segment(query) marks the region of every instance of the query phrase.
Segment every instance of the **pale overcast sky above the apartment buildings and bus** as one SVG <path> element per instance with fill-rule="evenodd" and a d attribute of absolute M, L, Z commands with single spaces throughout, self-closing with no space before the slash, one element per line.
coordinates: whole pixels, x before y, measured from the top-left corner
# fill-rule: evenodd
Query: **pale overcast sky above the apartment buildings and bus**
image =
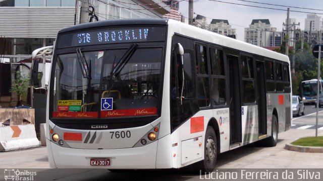
<path fill-rule="evenodd" d="M 256 7 L 265 7 L 271 9 Z M 228 20 L 229 24 L 232 25 L 232 28 L 236 29 L 237 39 L 244 41 L 244 28 L 248 28 L 253 19 L 268 19 L 272 26 L 277 28 L 277 31 L 282 31 L 283 23 L 285 23 L 287 18 L 288 7 L 290 7 L 290 18 L 295 18 L 296 23 L 300 23 L 299 28 L 301 30 L 304 30 L 305 18 L 307 17 L 308 13 L 316 13 L 318 16 L 323 17 L 323 0 L 195 0 L 193 11 L 195 13 L 194 17 L 196 15 L 202 15 L 206 17 L 208 24 L 212 19 Z M 184 17 L 188 18 L 188 0 L 180 2 L 180 12 Z M 188 22 L 187 19 L 186 22 Z"/>

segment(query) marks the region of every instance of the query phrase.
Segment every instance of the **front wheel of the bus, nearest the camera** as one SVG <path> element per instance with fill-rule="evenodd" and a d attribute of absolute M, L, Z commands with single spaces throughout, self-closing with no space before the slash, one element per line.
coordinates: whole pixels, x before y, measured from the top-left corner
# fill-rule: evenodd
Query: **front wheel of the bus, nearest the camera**
<path fill-rule="evenodd" d="M 208 173 L 214 170 L 218 157 L 217 135 L 211 126 L 207 126 L 204 140 L 204 159 L 195 163 L 196 171 Z"/>

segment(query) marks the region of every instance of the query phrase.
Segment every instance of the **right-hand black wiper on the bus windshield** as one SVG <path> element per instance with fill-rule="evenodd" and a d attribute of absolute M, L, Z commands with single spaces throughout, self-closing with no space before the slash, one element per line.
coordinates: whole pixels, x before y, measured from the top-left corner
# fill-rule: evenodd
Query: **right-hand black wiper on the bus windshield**
<path fill-rule="evenodd" d="M 132 57 L 133 53 L 136 51 L 138 44 L 134 43 L 132 44 L 126 53 L 121 57 L 121 59 L 118 61 L 117 65 L 112 69 L 110 75 L 111 76 L 117 76 L 121 72 L 121 70 L 125 67 L 125 65 L 128 63 L 130 58 Z"/>

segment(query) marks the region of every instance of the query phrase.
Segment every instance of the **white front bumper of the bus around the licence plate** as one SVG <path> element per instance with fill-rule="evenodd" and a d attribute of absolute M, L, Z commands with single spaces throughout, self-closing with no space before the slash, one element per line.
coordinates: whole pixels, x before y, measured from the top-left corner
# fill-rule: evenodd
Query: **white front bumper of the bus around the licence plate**
<path fill-rule="evenodd" d="M 124 149 L 75 149 L 48 141 L 47 149 L 52 155 L 50 166 L 56 168 L 151 169 L 156 168 L 157 143 Z M 110 165 L 93 166 L 91 158 L 110 158 Z"/>

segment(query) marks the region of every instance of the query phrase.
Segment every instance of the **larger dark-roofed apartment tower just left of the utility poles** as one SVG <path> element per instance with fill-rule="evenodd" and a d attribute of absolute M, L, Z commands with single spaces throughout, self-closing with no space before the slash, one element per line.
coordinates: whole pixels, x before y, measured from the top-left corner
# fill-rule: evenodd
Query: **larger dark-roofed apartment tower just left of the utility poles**
<path fill-rule="evenodd" d="M 273 46 L 276 29 L 268 19 L 252 20 L 249 28 L 244 30 L 244 41 L 260 47 Z"/>

